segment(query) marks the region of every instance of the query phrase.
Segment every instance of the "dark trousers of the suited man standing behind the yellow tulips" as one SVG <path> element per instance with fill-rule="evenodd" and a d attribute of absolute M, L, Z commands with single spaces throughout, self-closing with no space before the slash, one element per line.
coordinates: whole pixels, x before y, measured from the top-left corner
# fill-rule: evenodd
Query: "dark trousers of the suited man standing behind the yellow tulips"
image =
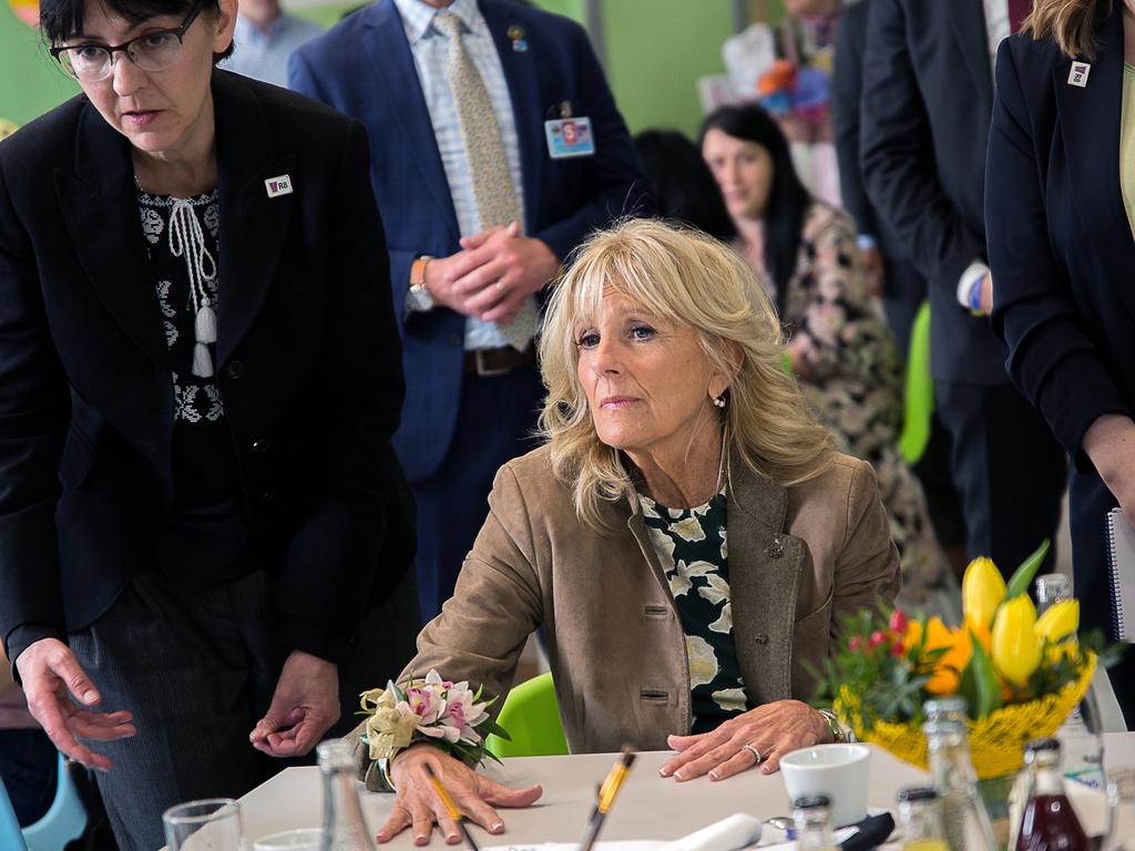
<path fill-rule="evenodd" d="M 1011 385 L 935 381 L 934 389 L 950 432 L 966 549 L 970 558 L 992 558 L 1008 578 L 1043 539 L 1056 540 L 1067 480 L 1063 447 Z M 1054 558 L 1056 547 L 1049 567 Z"/>

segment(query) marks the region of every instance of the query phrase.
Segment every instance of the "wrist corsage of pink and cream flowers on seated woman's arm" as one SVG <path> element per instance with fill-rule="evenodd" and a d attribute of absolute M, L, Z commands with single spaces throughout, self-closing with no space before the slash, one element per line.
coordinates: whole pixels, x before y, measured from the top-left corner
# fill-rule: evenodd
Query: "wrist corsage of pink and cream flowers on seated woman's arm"
<path fill-rule="evenodd" d="M 488 708 L 496 698 L 482 701 L 481 689 L 474 693 L 468 682 L 443 680 L 436 671 L 424 679 L 411 677 L 398 685 L 388 682 L 385 689 L 364 691 L 361 701 L 360 714 L 370 716 L 362 741 L 375 761 L 390 759 L 421 741 L 469 765 L 480 765 L 486 756 L 496 759 L 485 748 L 487 734 L 508 740 L 489 717 Z"/>

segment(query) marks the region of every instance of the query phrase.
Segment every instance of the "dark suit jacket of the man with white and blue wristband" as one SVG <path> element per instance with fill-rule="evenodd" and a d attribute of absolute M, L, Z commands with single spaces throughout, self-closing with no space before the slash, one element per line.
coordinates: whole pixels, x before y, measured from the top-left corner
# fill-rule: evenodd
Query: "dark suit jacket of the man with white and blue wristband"
<path fill-rule="evenodd" d="M 985 260 L 993 83 L 982 0 L 872 0 L 860 161 L 867 192 L 926 278 L 934 377 L 1008 384 L 1004 345 L 957 301 Z"/>

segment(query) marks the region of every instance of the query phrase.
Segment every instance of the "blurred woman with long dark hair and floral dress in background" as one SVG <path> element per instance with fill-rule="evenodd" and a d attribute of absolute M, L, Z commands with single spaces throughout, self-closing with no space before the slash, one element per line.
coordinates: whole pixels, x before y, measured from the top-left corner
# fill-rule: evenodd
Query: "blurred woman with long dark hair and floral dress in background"
<path fill-rule="evenodd" d="M 759 107 L 721 107 L 701 125 L 701 153 L 785 325 L 792 371 L 842 452 L 869 461 L 902 559 L 903 597 L 944 579 L 922 489 L 898 448 L 902 368 L 864 285 L 855 225 L 813 199 L 788 142 Z"/>

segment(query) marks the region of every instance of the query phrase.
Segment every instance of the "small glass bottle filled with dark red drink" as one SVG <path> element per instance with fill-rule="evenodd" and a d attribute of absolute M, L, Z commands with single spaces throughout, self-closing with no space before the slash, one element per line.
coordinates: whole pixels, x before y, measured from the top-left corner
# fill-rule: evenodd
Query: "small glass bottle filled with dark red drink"
<path fill-rule="evenodd" d="M 1065 794 L 1060 742 L 1039 739 L 1025 747 L 1029 772 L 1028 803 L 1017 833 L 1016 851 L 1091 851 L 1087 835 Z"/>

